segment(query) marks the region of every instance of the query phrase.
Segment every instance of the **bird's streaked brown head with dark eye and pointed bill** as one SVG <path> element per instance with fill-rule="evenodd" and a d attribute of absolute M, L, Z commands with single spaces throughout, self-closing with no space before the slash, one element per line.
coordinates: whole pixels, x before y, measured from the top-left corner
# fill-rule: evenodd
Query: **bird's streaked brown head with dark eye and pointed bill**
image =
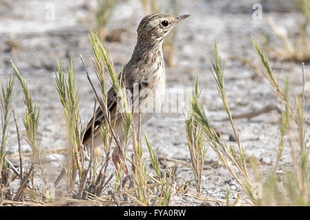
<path fill-rule="evenodd" d="M 177 23 L 189 17 L 189 14 L 173 16 L 170 14 L 148 14 L 140 21 L 137 32 L 138 41 L 157 42 L 164 41 Z"/>

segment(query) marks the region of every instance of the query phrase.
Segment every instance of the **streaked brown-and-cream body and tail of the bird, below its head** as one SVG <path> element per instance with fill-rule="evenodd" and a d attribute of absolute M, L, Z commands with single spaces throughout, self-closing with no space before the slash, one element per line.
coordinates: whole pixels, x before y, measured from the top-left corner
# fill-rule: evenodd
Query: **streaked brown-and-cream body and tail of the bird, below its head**
<path fill-rule="evenodd" d="M 137 114 L 141 111 L 141 121 L 145 124 L 150 120 L 158 109 L 159 105 L 162 105 L 164 100 L 164 87 L 166 84 L 164 58 L 162 56 L 162 47 L 154 48 L 151 51 L 144 51 L 143 48 L 135 47 L 133 56 L 130 61 L 125 65 L 119 79 L 122 79 L 122 85 L 127 89 L 131 96 L 131 102 L 133 104 L 133 118 L 136 118 L 135 124 L 137 124 Z M 137 94 L 136 91 L 139 91 Z M 128 95 L 128 92 L 126 93 Z M 128 98 L 128 97 L 127 97 Z M 121 124 L 122 113 L 119 112 L 119 104 L 117 104 L 117 94 L 113 87 L 110 88 L 107 95 L 107 107 L 110 113 L 110 122 L 112 124 Z M 150 104 L 153 106 L 150 109 Z M 148 106 L 148 109 L 145 107 Z M 137 108 L 139 107 L 139 108 Z M 101 108 L 98 107 L 95 112 L 95 130 L 94 130 L 94 146 L 101 143 L 99 126 L 104 122 L 104 114 Z M 91 129 L 93 125 L 93 118 L 88 122 L 86 131 L 83 137 L 83 144 L 89 145 L 91 137 Z M 122 136 L 122 126 L 115 128 L 115 133 Z"/>

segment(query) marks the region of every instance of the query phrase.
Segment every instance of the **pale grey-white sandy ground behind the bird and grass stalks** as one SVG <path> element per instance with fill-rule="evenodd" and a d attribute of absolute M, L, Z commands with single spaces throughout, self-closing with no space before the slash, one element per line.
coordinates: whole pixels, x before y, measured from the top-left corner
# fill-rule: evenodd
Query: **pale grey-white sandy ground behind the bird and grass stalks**
<path fill-rule="evenodd" d="M 86 2 L 86 1 L 85 1 Z M 59 59 L 66 63 L 72 58 L 77 71 L 77 83 L 81 94 L 81 116 L 87 122 L 93 113 L 95 98 L 86 75 L 79 61 L 79 54 L 84 56 L 86 65 L 95 80 L 91 64 L 91 50 L 88 43 L 88 30 L 95 27 L 95 1 L 48 1 L 28 0 L 0 1 L 0 78 L 4 82 L 11 72 L 10 59 L 19 67 L 21 74 L 32 89 L 34 100 L 40 109 L 39 137 L 41 146 L 46 150 L 64 148 L 65 124 L 61 104 L 55 90 L 55 68 Z M 281 2 L 281 3 L 280 3 Z M 55 21 L 45 19 L 46 4 L 55 4 Z M 214 39 L 225 61 L 226 93 L 233 114 L 246 113 L 277 104 L 278 100 L 267 80 L 258 76 L 253 68 L 240 62 L 246 58 L 260 67 L 258 58 L 251 45 L 251 36 L 269 37 L 277 43 L 274 34 L 267 25 L 267 17 L 273 17 L 279 25 L 293 24 L 294 17 L 300 16 L 291 1 L 262 1 L 263 14 L 261 21 L 252 18 L 252 5 L 255 1 L 180 1 L 180 14 L 192 16 L 178 27 L 175 48 L 177 64 L 166 68 L 166 87 L 174 89 L 191 89 L 195 76 L 200 78 L 204 86 L 202 101 L 206 113 L 218 131 L 224 133 L 229 141 L 232 134 L 229 122 L 225 118 L 220 96 L 217 94 L 213 76 L 210 72 L 212 44 Z M 25 10 L 26 8 L 26 10 Z M 293 11 L 293 12 L 291 12 Z M 128 61 L 136 41 L 136 28 L 144 13 L 137 0 L 120 1 L 117 3 L 108 30 L 125 28 L 121 42 L 106 42 L 104 45 L 110 51 L 117 71 Z M 15 43 L 17 48 L 10 51 L 8 43 Z M 291 80 L 292 93 L 301 91 L 301 66 L 298 63 L 272 63 L 278 78 L 288 76 Z M 309 66 L 306 65 L 306 69 Z M 309 77 L 308 77 L 309 79 Z M 306 83 L 306 94 L 309 93 L 309 83 Z M 12 108 L 17 112 L 19 125 L 22 126 L 23 96 L 17 80 Z M 167 99 L 167 102 L 169 100 Z M 186 165 L 190 159 L 184 134 L 184 121 L 180 113 L 158 113 L 144 125 L 147 134 L 163 166 L 176 163 L 178 166 L 176 181 L 193 179 L 191 168 Z M 256 157 L 262 166 L 263 173 L 268 173 L 275 163 L 279 142 L 279 114 L 276 111 L 259 115 L 251 120 L 241 119 L 235 123 L 240 131 L 242 144 L 246 155 Z M 13 124 L 12 124 L 13 125 Z M 309 137 L 309 133 L 306 134 Z M 23 152 L 30 151 L 23 141 Z M 10 126 L 8 134 L 8 155 L 17 152 L 17 138 L 14 126 Z M 53 181 L 61 170 L 63 155 L 46 156 L 46 175 Z M 211 166 L 217 162 L 217 157 L 209 148 L 204 169 L 203 193 L 217 199 L 224 199 L 226 188 L 231 188 L 231 196 L 240 192 L 240 187 L 223 166 Z M 284 151 L 284 157 L 279 168 L 289 162 L 289 152 Z M 113 166 L 109 166 L 111 172 Z M 65 183 L 59 186 L 64 190 Z M 200 205 L 202 201 L 185 195 L 175 195 L 175 205 Z"/>

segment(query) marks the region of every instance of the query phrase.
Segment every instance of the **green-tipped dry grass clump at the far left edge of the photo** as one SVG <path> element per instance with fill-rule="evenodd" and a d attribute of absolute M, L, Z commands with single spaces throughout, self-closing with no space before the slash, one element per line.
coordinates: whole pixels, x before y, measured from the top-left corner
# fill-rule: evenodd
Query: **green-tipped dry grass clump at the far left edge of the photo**
<path fill-rule="evenodd" d="M 39 112 L 37 110 L 37 105 L 32 102 L 31 91 L 27 87 L 27 83 L 21 77 L 19 70 L 12 63 L 15 74 L 21 84 L 24 95 L 24 106 L 25 114 L 23 118 L 23 125 L 25 129 L 22 131 L 23 138 L 28 142 L 32 150 L 31 157 L 32 161 L 30 166 L 23 167 L 22 156 L 21 156 L 21 146 L 20 146 L 20 133 L 19 126 L 17 125 L 16 115 L 13 111 L 14 122 L 17 129 L 17 139 L 19 144 L 19 170 L 14 167 L 14 165 L 6 158 L 6 133 L 8 128 L 8 120 L 10 118 L 10 103 L 12 101 L 13 94 L 13 78 L 12 75 L 6 83 L 6 87 L 2 87 L 1 96 L 1 111 L 2 111 L 2 139 L 1 139 L 1 175 L 0 175 L 0 203 L 5 203 L 6 200 L 14 202 L 19 202 L 21 199 L 29 199 L 40 201 L 46 201 L 45 186 L 46 177 L 43 170 L 43 165 L 41 162 L 41 148 L 39 147 L 37 141 L 37 128 L 38 128 L 38 118 Z M 39 178 L 45 184 L 42 188 L 37 188 L 36 181 L 34 177 L 35 168 L 39 168 L 41 175 Z M 19 187 L 16 190 L 12 190 L 10 184 L 14 179 L 19 179 Z"/>

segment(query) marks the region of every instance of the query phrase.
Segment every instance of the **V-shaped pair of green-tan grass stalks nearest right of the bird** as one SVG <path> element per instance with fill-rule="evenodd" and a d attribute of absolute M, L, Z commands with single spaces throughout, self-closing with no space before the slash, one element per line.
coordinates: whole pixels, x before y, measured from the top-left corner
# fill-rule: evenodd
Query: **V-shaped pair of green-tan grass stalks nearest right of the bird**
<path fill-rule="evenodd" d="M 254 187 L 249 177 L 248 168 L 246 166 L 246 157 L 240 142 L 239 133 L 235 128 L 235 124 L 231 116 L 231 111 L 229 109 L 224 87 L 224 64 L 222 63 L 222 59 L 218 53 L 216 42 L 214 43 L 214 58 L 212 65 L 212 73 L 217 85 L 217 91 L 220 94 L 226 113 L 229 116 L 229 122 L 231 124 L 231 128 L 233 129 L 235 140 L 237 140 L 237 148 L 220 139 L 213 126 L 211 126 L 209 119 L 206 117 L 206 113 L 204 112 L 204 109 L 200 104 L 197 96 L 191 100 L 193 117 L 195 118 L 195 121 L 197 121 L 200 129 L 203 131 L 206 142 L 209 144 L 209 146 L 211 146 L 222 164 L 227 168 L 227 170 L 229 170 L 231 175 L 235 177 L 236 181 L 238 181 L 244 192 L 246 192 L 246 194 L 249 196 L 251 199 L 249 202 L 253 204 L 256 202 L 255 197 L 252 195 Z"/>

